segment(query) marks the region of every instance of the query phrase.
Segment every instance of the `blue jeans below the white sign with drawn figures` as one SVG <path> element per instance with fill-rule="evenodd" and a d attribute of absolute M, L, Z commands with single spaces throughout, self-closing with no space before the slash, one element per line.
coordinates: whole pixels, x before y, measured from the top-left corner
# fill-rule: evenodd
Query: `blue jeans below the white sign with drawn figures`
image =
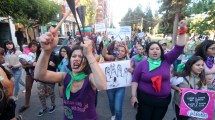
<path fill-rule="evenodd" d="M 116 115 L 116 120 L 121 120 L 125 87 L 107 90 L 107 95 L 112 116 Z"/>

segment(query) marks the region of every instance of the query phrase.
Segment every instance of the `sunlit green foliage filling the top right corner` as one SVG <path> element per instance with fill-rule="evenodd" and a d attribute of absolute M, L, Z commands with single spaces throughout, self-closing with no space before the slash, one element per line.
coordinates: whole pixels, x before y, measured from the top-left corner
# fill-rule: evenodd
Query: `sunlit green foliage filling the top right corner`
<path fill-rule="evenodd" d="M 190 32 L 208 34 L 215 28 L 215 2 L 213 0 L 193 0 L 185 9 L 191 14 Z"/>

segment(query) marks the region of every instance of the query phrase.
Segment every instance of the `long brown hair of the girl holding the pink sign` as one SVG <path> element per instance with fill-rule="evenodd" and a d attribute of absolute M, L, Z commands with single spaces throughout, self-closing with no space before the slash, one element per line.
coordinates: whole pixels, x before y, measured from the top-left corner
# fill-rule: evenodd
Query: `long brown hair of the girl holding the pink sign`
<path fill-rule="evenodd" d="M 185 63 L 185 67 L 183 69 L 182 72 L 180 73 L 174 73 L 174 76 L 178 76 L 178 77 L 185 77 L 185 76 L 190 76 L 191 75 L 191 71 L 192 71 L 192 66 L 198 62 L 199 60 L 203 60 L 202 57 L 200 56 L 192 56 L 186 63 Z M 203 60 L 204 61 L 204 60 Z M 198 87 L 201 88 L 202 87 L 202 83 L 206 84 L 206 80 L 205 80 L 205 72 L 204 70 L 199 74 L 199 78 L 200 81 L 198 82 Z"/>

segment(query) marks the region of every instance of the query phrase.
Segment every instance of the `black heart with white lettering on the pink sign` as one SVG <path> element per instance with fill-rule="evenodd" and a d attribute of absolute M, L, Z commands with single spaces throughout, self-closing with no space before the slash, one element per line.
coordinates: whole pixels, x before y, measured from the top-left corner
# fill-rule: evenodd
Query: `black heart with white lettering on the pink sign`
<path fill-rule="evenodd" d="M 184 103 L 194 111 L 202 111 L 209 103 L 209 95 L 202 92 L 186 92 L 184 94 Z"/>

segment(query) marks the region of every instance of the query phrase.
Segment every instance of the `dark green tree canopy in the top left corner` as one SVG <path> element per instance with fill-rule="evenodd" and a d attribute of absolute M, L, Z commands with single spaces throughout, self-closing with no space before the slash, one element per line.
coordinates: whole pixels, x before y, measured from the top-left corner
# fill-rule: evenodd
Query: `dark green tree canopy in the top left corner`
<path fill-rule="evenodd" d="M 0 16 L 11 16 L 22 24 L 46 24 L 53 20 L 61 6 L 50 0 L 1 0 Z"/>

